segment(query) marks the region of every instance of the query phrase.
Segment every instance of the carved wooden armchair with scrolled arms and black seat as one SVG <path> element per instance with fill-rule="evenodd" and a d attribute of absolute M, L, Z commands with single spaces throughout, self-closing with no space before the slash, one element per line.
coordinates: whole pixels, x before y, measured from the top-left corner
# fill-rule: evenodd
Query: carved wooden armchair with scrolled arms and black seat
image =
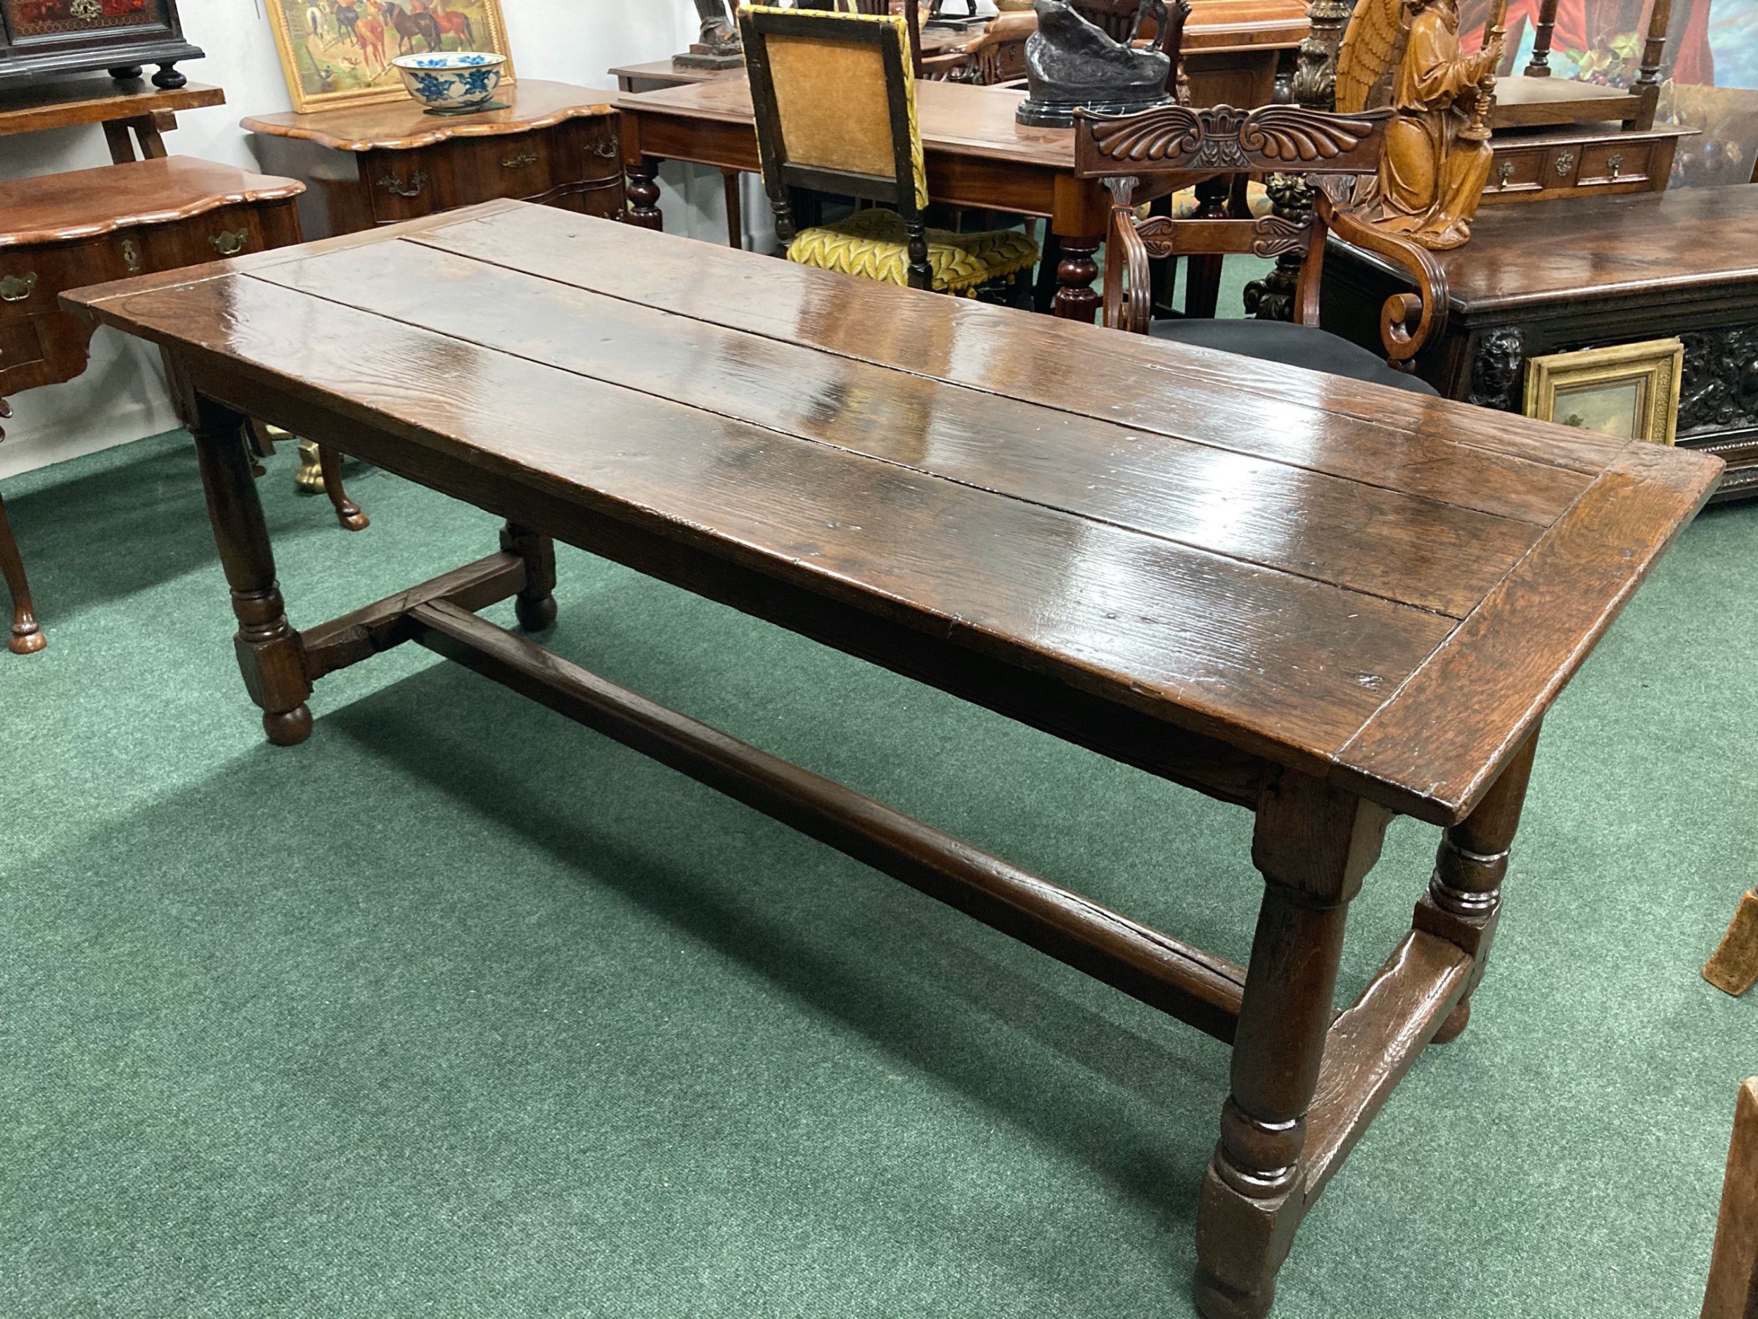
<path fill-rule="evenodd" d="M 1408 362 L 1445 327 L 1445 273 L 1415 243 L 1373 229 L 1336 200 L 1350 186 L 1348 176 L 1378 169 L 1391 118 L 1392 111 L 1324 114 L 1297 106 L 1266 106 L 1250 114 L 1231 106 L 1162 106 L 1141 114 L 1081 111 L 1074 121 L 1074 171 L 1079 178 L 1104 179 L 1113 200 L 1104 274 L 1106 325 L 1435 394 L 1427 383 L 1408 375 Z M 1315 185 L 1313 211 L 1304 223 L 1276 215 L 1136 216 L 1134 193 L 1144 178 L 1174 176 L 1176 186 L 1190 176 L 1238 179 L 1296 172 L 1311 176 Z M 1415 278 L 1420 294 L 1396 294 L 1380 317 L 1385 361 L 1318 329 L 1318 288 L 1331 234 L 1396 262 Z M 1306 253 L 1294 324 L 1151 320 L 1151 257 L 1278 257 L 1285 251 Z"/>

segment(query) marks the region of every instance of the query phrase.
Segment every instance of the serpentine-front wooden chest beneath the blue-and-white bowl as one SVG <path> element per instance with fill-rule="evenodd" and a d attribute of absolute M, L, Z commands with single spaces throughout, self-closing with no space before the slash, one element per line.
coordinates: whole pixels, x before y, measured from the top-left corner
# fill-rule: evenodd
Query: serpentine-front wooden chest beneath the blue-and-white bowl
<path fill-rule="evenodd" d="M 607 93 L 536 79 L 506 84 L 508 109 L 427 114 L 413 100 L 253 114 L 257 158 L 306 185 L 308 239 L 355 234 L 501 199 L 615 216 L 622 209 L 617 114 Z"/>

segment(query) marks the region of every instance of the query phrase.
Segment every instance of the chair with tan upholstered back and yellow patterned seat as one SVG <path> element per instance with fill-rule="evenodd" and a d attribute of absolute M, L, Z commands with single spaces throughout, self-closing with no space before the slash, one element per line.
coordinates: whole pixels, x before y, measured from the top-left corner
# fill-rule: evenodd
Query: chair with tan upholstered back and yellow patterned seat
<path fill-rule="evenodd" d="M 928 171 L 900 19 L 745 7 L 738 25 L 763 186 L 788 260 L 949 294 L 1011 276 L 1023 297 L 1037 264 L 1025 234 L 926 227 Z M 877 206 L 798 229 L 796 190 Z"/>

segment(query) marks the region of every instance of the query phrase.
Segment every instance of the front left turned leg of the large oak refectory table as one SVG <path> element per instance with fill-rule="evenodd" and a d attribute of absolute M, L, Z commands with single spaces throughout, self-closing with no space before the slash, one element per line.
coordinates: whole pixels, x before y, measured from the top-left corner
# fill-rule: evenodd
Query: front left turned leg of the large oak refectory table
<path fill-rule="evenodd" d="M 207 519 L 220 545 L 220 563 L 232 587 L 237 616 L 237 667 L 250 698 L 262 707 L 262 726 L 276 746 L 311 737 L 304 651 L 287 623 L 274 580 L 274 550 L 262 519 L 257 482 L 250 475 L 248 420 L 211 399 L 195 401 L 195 457 L 207 492 Z"/>

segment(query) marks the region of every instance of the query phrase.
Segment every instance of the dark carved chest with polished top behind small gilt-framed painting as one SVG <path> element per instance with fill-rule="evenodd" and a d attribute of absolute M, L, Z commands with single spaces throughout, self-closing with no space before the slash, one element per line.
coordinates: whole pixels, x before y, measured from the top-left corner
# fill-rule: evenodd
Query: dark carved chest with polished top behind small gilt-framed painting
<path fill-rule="evenodd" d="M 1442 394 L 1519 412 L 1529 357 L 1677 334 L 1679 443 L 1726 459 L 1716 499 L 1758 496 L 1758 188 L 1486 206 L 1470 244 L 1436 257 L 1447 327 L 1415 368 Z M 1380 308 L 1408 287 L 1333 244 L 1324 327 L 1377 346 Z"/>

